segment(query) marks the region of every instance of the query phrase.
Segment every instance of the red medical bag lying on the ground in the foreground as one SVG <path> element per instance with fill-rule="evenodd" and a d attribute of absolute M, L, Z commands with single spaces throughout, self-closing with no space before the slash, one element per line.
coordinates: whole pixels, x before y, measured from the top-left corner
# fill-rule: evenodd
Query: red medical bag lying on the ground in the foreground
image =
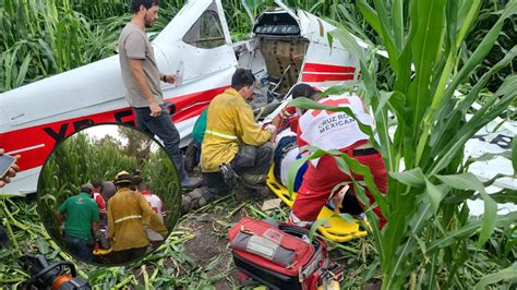
<path fill-rule="evenodd" d="M 342 278 L 326 243 L 318 237 L 309 241 L 305 228 L 244 217 L 228 235 L 236 266 L 272 289 L 317 289 Z"/>

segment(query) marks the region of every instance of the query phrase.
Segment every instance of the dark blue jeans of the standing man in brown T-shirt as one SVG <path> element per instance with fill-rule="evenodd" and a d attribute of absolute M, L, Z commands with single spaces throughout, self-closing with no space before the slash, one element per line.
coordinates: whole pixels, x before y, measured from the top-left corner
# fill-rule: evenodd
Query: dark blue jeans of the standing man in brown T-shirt
<path fill-rule="evenodd" d="M 160 105 L 161 113 L 151 117 L 149 107 L 133 108 L 136 119 L 136 128 L 154 136 L 157 135 L 165 146 L 167 155 L 172 159 L 180 180 L 185 177 L 183 155 L 180 152 L 180 133 L 175 123 L 170 120 L 170 114 L 165 105 Z"/>

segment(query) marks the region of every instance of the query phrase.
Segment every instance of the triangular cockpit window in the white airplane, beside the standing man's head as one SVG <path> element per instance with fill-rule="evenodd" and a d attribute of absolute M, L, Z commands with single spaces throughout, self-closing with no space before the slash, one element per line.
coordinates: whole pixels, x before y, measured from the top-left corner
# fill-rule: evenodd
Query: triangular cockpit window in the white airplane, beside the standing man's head
<path fill-rule="evenodd" d="M 225 44 L 225 35 L 219 16 L 215 11 L 207 10 L 190 27 L 183 41 L 197 48 L 215 48 Z"/>

